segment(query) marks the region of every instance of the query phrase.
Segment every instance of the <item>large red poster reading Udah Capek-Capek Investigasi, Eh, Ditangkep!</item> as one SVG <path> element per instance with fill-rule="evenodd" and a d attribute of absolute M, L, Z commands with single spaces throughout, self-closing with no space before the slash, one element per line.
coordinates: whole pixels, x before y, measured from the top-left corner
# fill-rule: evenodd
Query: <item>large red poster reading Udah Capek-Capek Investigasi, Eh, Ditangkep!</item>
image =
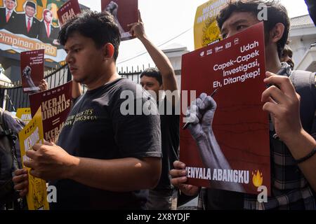
<path fill-rule="evenodd" d="M 187 99 L 189 113 L 181 117 L 182 125 L 190 123 L 180 128 L 188 183 L 252 194 L 265 186 L 270 195 L 268 113 L 261 103 L 264 45 L 259 23 L 183 56 L 182 91 L 196 90 L 198 97 Z"/>

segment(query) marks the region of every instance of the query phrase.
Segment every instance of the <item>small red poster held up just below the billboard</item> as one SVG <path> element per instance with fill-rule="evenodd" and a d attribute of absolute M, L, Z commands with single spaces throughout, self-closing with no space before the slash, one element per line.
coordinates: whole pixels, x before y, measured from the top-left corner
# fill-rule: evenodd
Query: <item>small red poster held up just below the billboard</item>
<path fill-rule="evenodd" d="M 20 67 L 24 92 L 39 92 L 44 79 L 44 49 L 21 52 Z"/>

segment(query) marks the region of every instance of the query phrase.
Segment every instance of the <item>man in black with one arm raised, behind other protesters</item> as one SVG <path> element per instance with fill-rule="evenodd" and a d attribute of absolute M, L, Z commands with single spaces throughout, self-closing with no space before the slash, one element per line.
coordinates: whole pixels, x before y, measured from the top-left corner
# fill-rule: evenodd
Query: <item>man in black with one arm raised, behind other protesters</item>
<path fill-rule="evenodd" d="M 177 110 L 179 109 L 177 108 L 178 87 L 176 75 L 168 57 L 147 38 L 140 13 L 138 17 L 140 22 L 129 25 L 131 33 L 145 45 L 157 66 L 157 69 L 145 69 L 140 74 L 140 84 L 152 94 L 159 104 L 162 132 L 162 174 L 157 187 L 149 191 L 146 207 L 150 210 L 166 210 L 171 209 L 174 190 L 170 183 L 169 170 L 172 168 L 173 162 L 178 160 L 180 120 L 180 112 Z"/>

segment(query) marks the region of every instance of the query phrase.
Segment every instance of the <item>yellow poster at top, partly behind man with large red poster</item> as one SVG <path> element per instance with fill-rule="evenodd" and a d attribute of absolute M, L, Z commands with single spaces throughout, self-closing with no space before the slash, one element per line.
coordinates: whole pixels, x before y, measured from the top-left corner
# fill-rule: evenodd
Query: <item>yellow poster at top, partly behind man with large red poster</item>
<path fill-rule="evenodd" d="M 221 40 L 216 16 L 229 0 L 211 0 L 197 8 L 195 14 L 195 49 L 206 47 Z"/>

